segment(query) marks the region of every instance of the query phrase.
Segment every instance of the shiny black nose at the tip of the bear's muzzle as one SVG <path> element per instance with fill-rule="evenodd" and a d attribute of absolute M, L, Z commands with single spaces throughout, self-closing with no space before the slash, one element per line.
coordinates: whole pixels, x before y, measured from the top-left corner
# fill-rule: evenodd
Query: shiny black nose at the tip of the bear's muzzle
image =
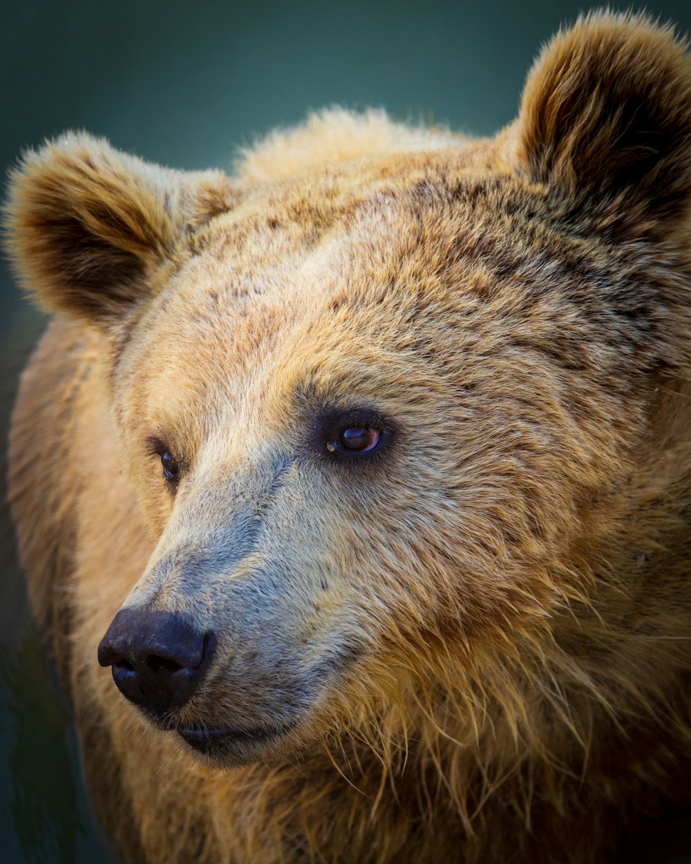
<path fill-rule="evenodd" d="M 193 695 L 215 642 L 179 613 L 122 609 L 98 645 L 98 663 L 112 666 L 113 681 L 130 702 L 161 716 Z"/>

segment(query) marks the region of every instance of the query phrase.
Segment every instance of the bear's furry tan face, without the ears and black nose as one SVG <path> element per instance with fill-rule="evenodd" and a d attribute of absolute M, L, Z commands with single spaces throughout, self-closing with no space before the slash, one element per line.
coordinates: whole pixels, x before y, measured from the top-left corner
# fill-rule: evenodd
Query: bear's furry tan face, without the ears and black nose
<path fill-rule="evenodd" d="M 444 681 L 420 645 L 462 667 L 498 627 L 541 632 L 586 595 L 584 511 L 643 435 L 654 360 L 619 346 L 650 334 L 598 296 L 633 290 L 617 252 L 537 219 L 479 228 L 488 197 L 496 219 L 544 195 L 453 152 L 411 162 L 253 196 L 121 337 L 121 453 L 158 538 L 125 608 L 214 634 L 174 725 L 255 730 L 258 751 L 200 742 L 231 764 L 377 715 L 387 679 L 406 699 Z"/>

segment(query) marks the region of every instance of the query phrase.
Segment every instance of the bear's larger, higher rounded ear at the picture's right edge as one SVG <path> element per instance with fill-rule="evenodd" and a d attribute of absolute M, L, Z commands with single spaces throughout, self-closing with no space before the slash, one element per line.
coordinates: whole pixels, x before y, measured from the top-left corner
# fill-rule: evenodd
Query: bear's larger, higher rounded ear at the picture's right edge
<path fill-rule="evenodd" d="M 596 231 L 669 231 L 691 198 L 691 58 L 669 27 L 596 13 L 543 49 L 514 157 Z"/>

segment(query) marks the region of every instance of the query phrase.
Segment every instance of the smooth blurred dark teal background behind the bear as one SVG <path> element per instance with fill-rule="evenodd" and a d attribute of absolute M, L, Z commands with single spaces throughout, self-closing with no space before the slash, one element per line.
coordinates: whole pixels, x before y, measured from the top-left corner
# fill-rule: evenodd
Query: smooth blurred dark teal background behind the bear
<path fill-rule="evenodd" d="M 399 119 L 491 134 L 515 116 L 542 41 L 588 8 L 548 0 L 3 3 L 0 161 L 9 168 L 23 148 L 84 128 L 174 168 L 230 168 L 238 146 L 331 104 L 382 105 Z M 691 28 L 688 0 L 646 8 Z M 17 377 L 43 326 L 0 264 L 3 454 Z M 69 708 L 30 623 L 4 505 L 0 537 L 0 860 L 114 860 L 89 812 Z M 680 824 L 622 861 L 691 861 L 688 823 Z"/>

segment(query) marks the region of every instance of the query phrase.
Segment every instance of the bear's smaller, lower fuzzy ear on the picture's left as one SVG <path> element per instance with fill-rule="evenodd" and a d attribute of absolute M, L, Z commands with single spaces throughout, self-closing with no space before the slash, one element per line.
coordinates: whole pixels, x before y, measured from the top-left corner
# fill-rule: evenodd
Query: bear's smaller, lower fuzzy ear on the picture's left
<path fill-rule="evenodd" d="M 43 308 L 108 327 L 148 297 L 184 233 L 235 197 L 219 171 L 159 168 L 67 133 L 10 175 L 7 248 Z"/>

